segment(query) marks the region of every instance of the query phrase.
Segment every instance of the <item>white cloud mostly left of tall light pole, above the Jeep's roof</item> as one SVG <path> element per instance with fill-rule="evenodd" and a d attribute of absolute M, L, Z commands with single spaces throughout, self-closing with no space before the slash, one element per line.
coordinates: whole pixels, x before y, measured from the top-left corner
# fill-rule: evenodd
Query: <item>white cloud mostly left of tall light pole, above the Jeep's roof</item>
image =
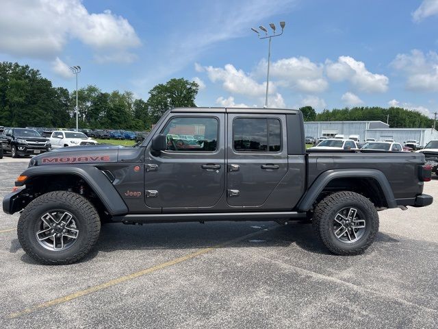
<path fill-rule="evenodd" d="M 242 70 L 237 70 L 232 64 L 221 67 L 206 66 L 205 71 L 211 82 L 222 82 L 222 87 L 230 93 L 249 97 L 261 96 L 266 93 L 266 82 L 259 84 Z M 270 82 L 269 92 L 274 93 L 275 86 Z"/>

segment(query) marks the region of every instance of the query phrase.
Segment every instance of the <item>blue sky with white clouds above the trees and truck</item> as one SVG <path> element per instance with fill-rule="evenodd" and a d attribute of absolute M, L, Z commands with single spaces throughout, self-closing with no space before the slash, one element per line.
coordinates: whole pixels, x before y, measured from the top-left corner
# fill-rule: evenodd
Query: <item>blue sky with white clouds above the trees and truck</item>
<path fill-rule="evenodd" d="M 55 86 L 148 91 L 172 77 L 201 84 L 198 106 L 402 106 L 438 110 L 438 0 L 3 0 L 0 60 Z"/>

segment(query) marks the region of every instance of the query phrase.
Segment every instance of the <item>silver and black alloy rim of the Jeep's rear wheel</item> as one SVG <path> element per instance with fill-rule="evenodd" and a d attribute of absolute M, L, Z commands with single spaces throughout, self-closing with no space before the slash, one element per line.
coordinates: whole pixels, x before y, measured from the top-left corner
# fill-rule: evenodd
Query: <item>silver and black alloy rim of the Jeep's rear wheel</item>
<path fill-rule="evenodd" d="M 365 219 L 356 208 L 342 208 L 333 220 L 333 234 L 336 239 L 344 243 L 353 243 L 365 234 Z"/>

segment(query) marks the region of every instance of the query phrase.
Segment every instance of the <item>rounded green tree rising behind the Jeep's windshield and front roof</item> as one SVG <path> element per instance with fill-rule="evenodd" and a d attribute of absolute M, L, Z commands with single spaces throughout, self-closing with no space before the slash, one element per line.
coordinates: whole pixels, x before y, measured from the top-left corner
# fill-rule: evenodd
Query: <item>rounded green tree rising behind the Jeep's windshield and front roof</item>
<path fill-rule="evenodd" d="M 153 123 L 170 108 L 196 106 L 194 99 L 198 94 L 198 88 L 196 82 L 181 77 L 171 79 L 166 84 L 157 84 L 149 90 L 150 96 L 146 103 Z"/>

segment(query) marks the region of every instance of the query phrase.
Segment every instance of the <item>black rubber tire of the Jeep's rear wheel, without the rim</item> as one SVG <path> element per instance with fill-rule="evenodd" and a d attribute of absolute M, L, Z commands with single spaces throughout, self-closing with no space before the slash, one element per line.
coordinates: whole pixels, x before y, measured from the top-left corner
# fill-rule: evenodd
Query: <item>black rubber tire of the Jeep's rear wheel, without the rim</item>
<path fill-rule="evenodd" d="M 333 232 L 333 221 L 343 208 L 354 207 L 363 214 L 365 231 L 358 241 L 345 243 L 339 241 Z M 333 254 L 349 256 L 363 254 L 372 245 L 378 232 L 378 214 L 369 199 L 358 193 L 342 191 L 333 193 L 316 206 L 312 226 L 318 238 Z"/>

